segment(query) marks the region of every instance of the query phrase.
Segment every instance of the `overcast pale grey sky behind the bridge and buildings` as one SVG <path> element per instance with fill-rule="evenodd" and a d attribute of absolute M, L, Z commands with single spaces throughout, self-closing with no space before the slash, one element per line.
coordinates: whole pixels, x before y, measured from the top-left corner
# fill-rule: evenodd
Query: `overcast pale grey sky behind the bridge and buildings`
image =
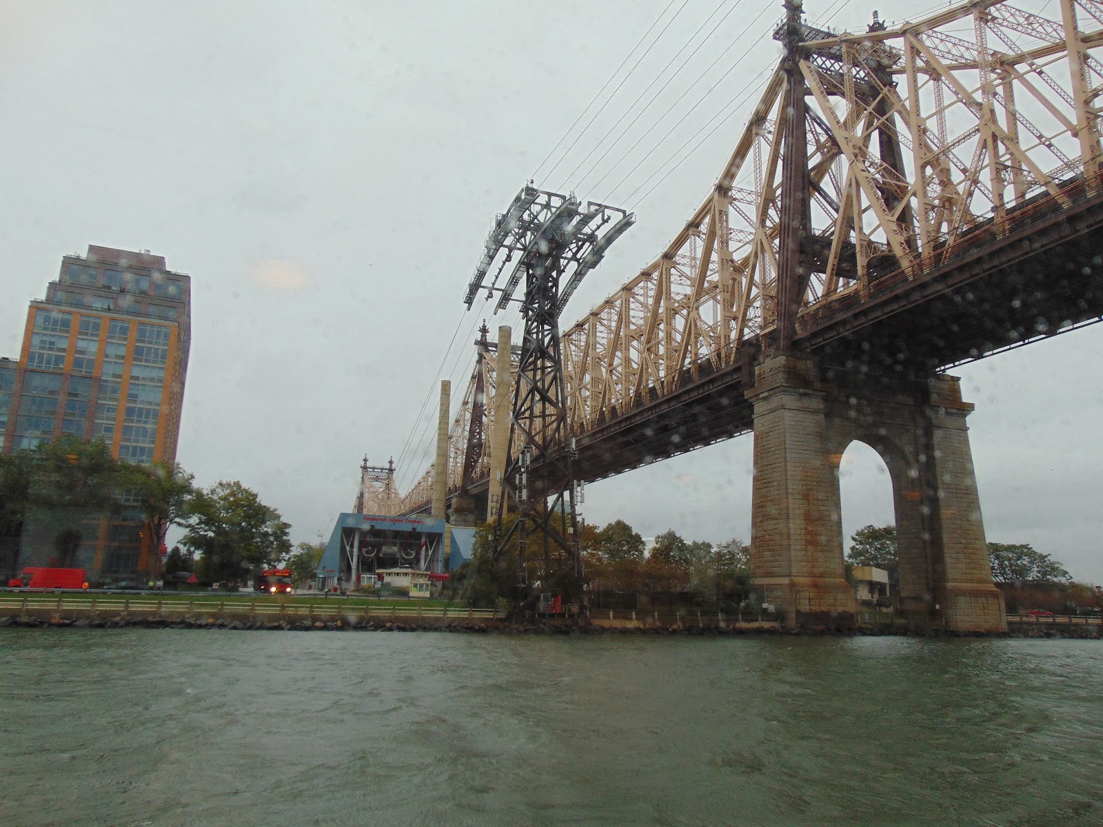
<path fill-rule="evenodd" d="M 404 485 L 425 469 L 431 429 L 417 417 L 427 395 L 431 417 L 494 215 L 667 2 L 0 2 L 0 354 L 18 355 L 26 302 L 45 293 L 63 255 L 99 244 L 165 256 L 192 276 L 180 461 L 202 485 L 255 488 L 296 541 L 328 535 L 352 506 L 365 452 L 385 463 L 407 447 Z M 930 6 L 807 0 L 806 11 L 857 30 L 875 8 L 896 20 Z M 708 192 L 754 96 L 731 107 L 777 61 L 769 30 L 781 14 L 780 2 L 676 0 L 607 111 L 537 179 L 623 206 L 646 194 L 564 327 L 651 261 Z M 585 174 L 629 104 L 714 26 Z M 672 105 L 677 128 L 632 172 L 668 127 L 640 136 Z M 736 114 L 652 190 L 721 109 Z M 472 339 L 480 311 L 461 337 Z M 1091 327 L 955 372 L 977 406 L 988 538 L 1031 543 L 1093 582 L 1103 581 L 1101 353 L 1103 330 Z M 472 356 L 468 347 L 446 363 L 453 396 Z M 852 445 L 842 475 L 847 536 L 892 522 L 870 449 Z M 645 536 L 748 538 L 750 491 L 742 437 L 587 486 L 585 516 L 622 517 Z"/>

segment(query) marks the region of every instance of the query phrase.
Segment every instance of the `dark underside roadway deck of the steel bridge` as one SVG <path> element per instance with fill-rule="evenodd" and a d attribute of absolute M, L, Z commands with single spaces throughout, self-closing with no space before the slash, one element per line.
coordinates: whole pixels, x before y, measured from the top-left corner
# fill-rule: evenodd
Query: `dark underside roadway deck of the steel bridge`
<path fill-rule="evenodd" d="M 968 362 L 1103 316 L 1103 194 L 1049 197 L 997 225 L 982 224 L 944 264 L 902 271 L 805 311 L 797 347 L 827 367 L 922 374 Z M 768 334 L 767 334 L 768 335 Z M 673 391 L 614 412 L 577 434 L 578 477 L 592 482 L 751 430 L 746 391 L 759 340 L 732 364 L 705 362 Z M 538 477 L 534 468 L 533 477 Z M 481 494 L 480 480 L 472 493 Z"/>

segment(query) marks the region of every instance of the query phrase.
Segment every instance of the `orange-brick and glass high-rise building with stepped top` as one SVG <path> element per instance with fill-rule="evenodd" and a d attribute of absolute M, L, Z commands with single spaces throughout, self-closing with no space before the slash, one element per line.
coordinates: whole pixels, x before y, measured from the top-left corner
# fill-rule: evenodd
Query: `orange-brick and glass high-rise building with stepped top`
<path fill-rule="evenodd" d="M 190 344 L 191 278 L 163 257 L 97 246 L 65 256 L 45 299 L 31 302 L 18 363 L 0 359 L 0 452 L 68 432 L 101 439 L 120 460 L 173 462 Z M 24 523 L 19 567 L 58 562 L 46 536 L 56 516 Z M 107 581 L 149 573 L 158 549 L 140 529 L 126 509 L 85 516 L 64 562 Z"/>

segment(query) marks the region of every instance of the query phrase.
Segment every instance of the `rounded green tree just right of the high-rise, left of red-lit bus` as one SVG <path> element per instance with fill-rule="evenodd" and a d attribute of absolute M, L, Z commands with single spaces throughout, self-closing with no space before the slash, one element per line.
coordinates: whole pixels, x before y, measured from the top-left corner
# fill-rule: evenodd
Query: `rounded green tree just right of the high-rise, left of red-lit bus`
<path fill-rule="evenodd" d="M 291 552 L 290 526 L 239 482 L 219 482 L 192 497 L 182 545 L 200 555 L 206 581 L 238 583 Z"/>

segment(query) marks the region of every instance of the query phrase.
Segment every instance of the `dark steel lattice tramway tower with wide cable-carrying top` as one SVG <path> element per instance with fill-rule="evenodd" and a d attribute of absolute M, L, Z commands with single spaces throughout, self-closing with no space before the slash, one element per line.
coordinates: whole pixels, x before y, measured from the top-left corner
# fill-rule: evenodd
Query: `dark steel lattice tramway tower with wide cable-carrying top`
<path fill-rule="evenodd" d="M 510 423 L 510 453 L 502 480 L 504 495 L 495 526 L 495 561 L 516 536 L 517 587 L 528 600 L 529 545 L 538 544 L 539 586 L 555 584 L 569 597 L 581 588 L 576 490 L 564 404 L 559 313 L 582 278 L 596 267 L 609 246 L 634 223 L 623 210 L 525 186 L 510 208 L 497 216 L 486 238 L 485 253 L 468 286 L 471 308 L 480 290 L 500 293 L 495 312 L 504 309 L 522 278 L 521 314 L 524 337 Z M 490 283 L 491 267 L 501 261 Z M 505 267 L 517 258 L 499 287 Z M 515 447 L 516 450 L 515 450 Z M 517 520 L 502 531 L 505 502 L 512 498 Z"/>

